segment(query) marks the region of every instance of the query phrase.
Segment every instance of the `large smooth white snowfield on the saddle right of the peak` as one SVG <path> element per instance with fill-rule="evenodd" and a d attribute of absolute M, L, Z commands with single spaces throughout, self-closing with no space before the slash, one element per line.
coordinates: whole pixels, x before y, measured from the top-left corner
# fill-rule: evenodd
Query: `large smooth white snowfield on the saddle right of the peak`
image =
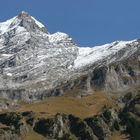
<path fill-rule="evenodd" d="M 103 60 L 107 56 L 117 53 L 119 50 L 129 47 L 130 44 L 136 40 L 132 41 L 116 41 L 111 44 L 105 44 L 102 46 L 90 47 L 79 47 L 79 54 L 77 59 L 74 61 L 74 68 L 80 68 L 89 64 L 93 64 L 99 60 Z"/>

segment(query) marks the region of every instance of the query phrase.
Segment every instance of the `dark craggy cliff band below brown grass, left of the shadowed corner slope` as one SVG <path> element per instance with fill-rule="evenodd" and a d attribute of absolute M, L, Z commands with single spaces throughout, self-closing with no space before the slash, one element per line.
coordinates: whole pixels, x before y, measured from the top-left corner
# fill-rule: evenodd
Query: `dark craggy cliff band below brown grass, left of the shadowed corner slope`
<path fill-rule="evenodd" d="M 57 114 L 53 118 L 36 118 L 33 112 L 0 114 L 1 140 L 26 138 L 34 132 L 56 140 L 107 140 L 113 131 L 119 131 L 118 118 L 111 110 L 100 116 L 82 120 L 73 115 Z"/>

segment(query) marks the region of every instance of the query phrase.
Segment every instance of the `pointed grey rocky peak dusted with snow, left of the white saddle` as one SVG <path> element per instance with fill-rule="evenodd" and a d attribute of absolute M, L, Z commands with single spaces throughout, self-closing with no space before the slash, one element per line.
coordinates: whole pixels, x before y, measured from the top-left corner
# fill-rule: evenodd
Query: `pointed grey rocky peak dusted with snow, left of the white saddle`
<path fill-rule="evenodd" d="M 8 86 L 28 83 L 34 78 L 36 82 L 51 80 L 56 70 L 59 77 L 77 57 L 77 46 L 69 35 L 46 32 L 44 25 L 26 12 L 0 23 L 0 31 L 0 68 L 3 65 L 0 77 L 5 75 L 16 81 L 12 85 L 7 83 Z M 26 78 L 20 80 L 23 75 Z"/>

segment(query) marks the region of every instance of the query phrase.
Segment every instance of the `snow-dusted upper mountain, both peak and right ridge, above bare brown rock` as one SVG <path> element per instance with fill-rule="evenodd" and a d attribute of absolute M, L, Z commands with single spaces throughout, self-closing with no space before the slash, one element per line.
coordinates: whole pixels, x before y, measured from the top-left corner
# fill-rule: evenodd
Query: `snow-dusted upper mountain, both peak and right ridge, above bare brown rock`
<path fill-rule="evenodd" d="M 108 69 L 109 65 L 121 63 L 138 54 L 139 49 L 139 40 L 77 47 L 68 34 L 48 33 L 42 23 L 23 11 L 18 16 L 0 23 L 0 91 L 23 89 L 25 98 L 29 99 L 30 94 L 38 98 L 35 96 L 38 95 L 38 90 L 42 96 L 40 98 L 47 96 L 47 93 L 50 96 L 55 94 L 57 90 L 49 90 L 60 86 L 62 82 L 71 81 L 70 88 L 87 82 L 83 87 L 88 86 L 89 89 L 92 84 L 96 84 L 92 80 L 96 81 L 96 78 L 104 75 L 104 71 L 99 71 L 96 75 L 95 68 L 106 66 Z M 91 77 L 87 76 L 86 80 L 80 81 L 78 78 L 82 75 Z M 73 82 L 74 79 L 78 80 Z M 102 77 L 100 79 L 103 80 Z M 107 80 L 110 80 L 110 77 Z M 12 93 L 14 96 L 15 92 Z M 24 98 L 24 95 L 20 98 Z"/>

